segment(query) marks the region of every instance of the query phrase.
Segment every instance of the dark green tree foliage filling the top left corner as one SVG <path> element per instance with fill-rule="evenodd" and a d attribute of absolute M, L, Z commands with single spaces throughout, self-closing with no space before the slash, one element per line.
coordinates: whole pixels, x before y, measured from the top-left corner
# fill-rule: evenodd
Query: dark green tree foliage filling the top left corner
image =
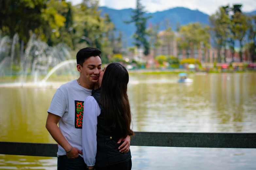
<path fill-rule="evenodd" d="M 44 21 L 42 11 L 47 0 L 1 0 L 0 30 L 11 38 L 15 33 L 28 42 L 30 32 L 40 28 Z"/>

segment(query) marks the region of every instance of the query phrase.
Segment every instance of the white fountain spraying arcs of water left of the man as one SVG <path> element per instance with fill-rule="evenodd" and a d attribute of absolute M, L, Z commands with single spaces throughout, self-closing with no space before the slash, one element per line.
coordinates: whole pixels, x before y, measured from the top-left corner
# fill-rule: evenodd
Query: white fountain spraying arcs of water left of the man
<path fill-rule="evenodd" d="M 76 60 L 64 43 L 49 47 L 32 35 L 24 55 L 20 49 L 23 43 L 19 43 L 18 34 L 13 39 L 0 37 L 0 87 L 48 87 L 78 76 Z"/>

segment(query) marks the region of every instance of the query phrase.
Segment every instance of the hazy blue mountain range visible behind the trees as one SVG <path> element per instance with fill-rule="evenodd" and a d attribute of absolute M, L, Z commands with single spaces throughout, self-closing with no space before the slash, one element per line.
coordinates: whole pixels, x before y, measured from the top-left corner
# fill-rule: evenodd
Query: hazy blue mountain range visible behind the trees
<path fill-rule="evenodd" d="M 108 13 L 111 21 L 115 24 L 117 31 L 122 31 L 124 35 L 124 40 L 128 42 L 128 46 L 132 45 L 132 35 L 136 31 L 134 23 L 126 24 L 124 21 L 130 21 L 132 13 L 132 8 L 128 9 L 111 9 L 108 7 L 99 7 L 101 10 L 101 15 L 104 16 L 105 13 Z M 247 14 L 256 14 L 256 11 L 249 12 Z M 168 19 L 171 23 L 173 30 L 176 29 L 177 22 L 180 25 L 186 25 L 191 22 L 200 22 L 202 24 L 209 24 L 209 15 L 198 11 L 191 10 L 184 7 L 175 7 L 164 11 L 158 11 L 155 13 L 146 13 L 145 16 L 152 16 L 148 20 L 147 27 L 149 24 L 160 24 L 160 31 L 164 30 L 164 20 Z"/>

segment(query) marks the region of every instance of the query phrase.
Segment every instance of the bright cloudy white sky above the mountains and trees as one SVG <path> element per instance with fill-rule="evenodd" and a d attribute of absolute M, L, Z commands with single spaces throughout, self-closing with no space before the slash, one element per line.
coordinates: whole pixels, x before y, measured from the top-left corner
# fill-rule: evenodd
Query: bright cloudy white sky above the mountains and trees
<path fill-rule="evenodd" d="M 73 5 L 79 4 L 82 0 L 68 0 Z M 256 0 L 141 0 L 148 12 L 163 11 L 174 7 L 186 7 L 192 10 L 198 9 L 208 15 L 215 13 L 220 6 L 228 4 L 241 4 L 244 12 L 256 10 Z M 99 0 L 99 6 L 106 6 L 113 9 L 135 8 L 136 0 Z"/>

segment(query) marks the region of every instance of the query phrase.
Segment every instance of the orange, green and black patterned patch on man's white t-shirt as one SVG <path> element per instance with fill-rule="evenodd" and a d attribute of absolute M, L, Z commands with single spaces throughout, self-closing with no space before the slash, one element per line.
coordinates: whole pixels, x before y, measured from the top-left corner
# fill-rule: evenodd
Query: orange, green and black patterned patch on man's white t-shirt
<path fill-rule="evenodd" d="M 83 113 L 84 101 L 75 100 L 75 128 L 82 129 L 83 127 Z"/>

